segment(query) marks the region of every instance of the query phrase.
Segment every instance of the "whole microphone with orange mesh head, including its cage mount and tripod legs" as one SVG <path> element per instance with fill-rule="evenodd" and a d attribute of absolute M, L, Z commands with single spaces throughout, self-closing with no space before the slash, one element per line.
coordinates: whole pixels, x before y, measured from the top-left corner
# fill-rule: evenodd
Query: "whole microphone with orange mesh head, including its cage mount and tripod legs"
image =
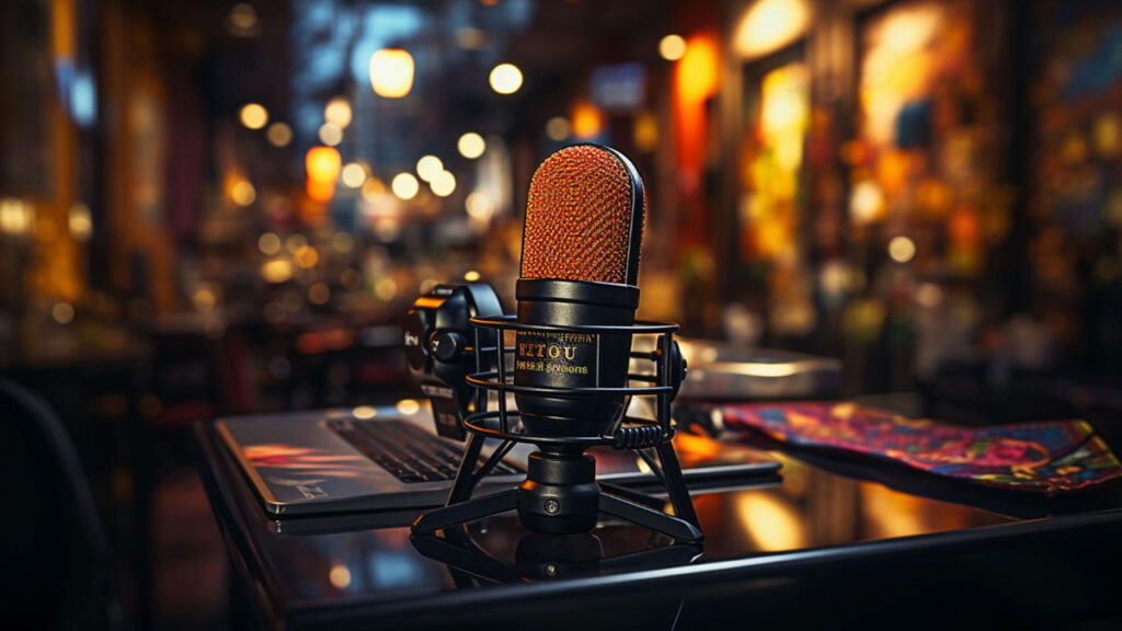
<path fill-rule="evenodd" d="M 465 377 L 473 387 L 498 392 L 498 411 L 465 418 L 471 433 L 448 504 L 417 518 L 416 534 L 430 534 L 509 510 L 535 532 L 571 534 L 596 528 L 600 514 L 645 525 L 680 541 L 702 533 L 690 503 L 671 438 L 670 400 L 684 363 L 672 336 L 677 324 L 635 326 L 638 257 L 646 195 L 635 165 L 614 149 L 573 145 L 545 158 L 534 173 L 522 232 L 522 268 L 515 289 L 518 312 L 509 318 L 476 318 L 477 328 L 495 330 L 497 368 Z M 514 329 L 514 387 L 506 379 L 503 331 Z M 660 333 L 659 350 L 643 355 L 655 375 L 631 386 L 632 335 Z M 479 345 L 481 346 L 481 345 Z M 482 364 L 476 349 L 477 365 Z M 493 381 L 494 378 L 499 381 Z M 514 391 L 523 431 L 508 429 L 506 400 Z M 654 421 L 624 420 L 625 396 L 657 396 Z M 497 423 L 486 421 L 497 419 Z M 503 443 L 476 470 L 482 441 Z M 471 499 L 476 483 L 517 442 L 537 450 L 526 459 L 526 479 L 517 488 Z M 596 459 L 588 447 L 610 445 L 634 450 L 666 487 L 670 515 L 634 494 L 596 482 Z M 653 454 L 650 450 L 653 449 Z M 632 499 L 623 495 L 629 495 Z M 651 499 L 649 499 L 651 500 Z M 655 500 L 656 505 L 661 505 Z"/>

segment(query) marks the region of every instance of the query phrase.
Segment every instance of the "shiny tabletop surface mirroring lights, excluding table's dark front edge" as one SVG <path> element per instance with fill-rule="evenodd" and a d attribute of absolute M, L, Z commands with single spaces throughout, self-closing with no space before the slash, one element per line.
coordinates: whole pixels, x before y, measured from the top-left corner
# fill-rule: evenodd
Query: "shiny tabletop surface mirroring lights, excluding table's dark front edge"
<path fill-rule="evenodd" d="M 248 494 L 245 502 L 254 504 L 246 516 L 264 522 L 249 531 L 257 533 L 259 558 L 278 580 L 276 587 L 286 598 L 315 601 L 353 596 L 387 601 L 1015 521 L 843 477 L 782 454 L 767 456 L 783 461 L 781 483 L 695 496 L 706 534 L 700 547 L 675 545 L 642 527 L 611 521 L 601 522 L 587 536 L 548 538 L 524 529 L 514 513 L 475 522 L 443 539 L 411 540 L 408 523 L 416 511 L 275 521 L 260 510 L 246 485 L 238 486 Z"/>

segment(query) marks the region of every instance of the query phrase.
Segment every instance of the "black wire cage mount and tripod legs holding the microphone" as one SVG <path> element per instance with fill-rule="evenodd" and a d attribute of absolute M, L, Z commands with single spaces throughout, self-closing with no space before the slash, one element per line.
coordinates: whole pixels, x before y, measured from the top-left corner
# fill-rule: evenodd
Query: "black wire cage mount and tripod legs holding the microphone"
<path fill-rule="evenodd" d="M 413 524 L 414 534 L 433 534 L 453 525 L 516 510 L 523 525 L 542 533 L 589 532 L 596 528 L 600 515 L 605 514 L 646 527 L 675 541 L 702 539 L 681 465 L 671 443 L 674 428 L 670 422 L 670 402 L 686 373 L 684 362 L 672 339 L 673 332 L 678 330 L 677 324 L 636 322 L 632 326 L 559 327 L 518 323 L 511 316 L 472 318 L 471 323 L 475 324 L 477 372 L 468 375 L 466 381 L 476 387 L 477 411 L 463 420 L 470 435 L 468 445 L 448 503 L 421 515 Z M 504 358 L 511 349 L 499 345 L 481 347 L 480 329 L 495 330 L 495 340 L 503 340 L 505 330 L 657 335 L 655 351 L 631 354 L 633 359 L 652 362 L 655 374 L 627 375 L 628 382 L 651 384 L 644 386 L 554 388 L 515 385 L 512 383 L 513 373 L 507 371 Z M 494 357 L 494 364 L 487 364 L 496 367 L 493 371 L 484 371 L 487 354 Z M 488 409 L 489 391 L 498 393 L 498 410 Z M 562 399 L 595 397 L 603 394 L 654 396 L 656 412 L 655 419 L 651 421 L 628 418 L 622 411 L 614 429 L 601 436 L 543 436 L 513 426 L 512 421 L 518 413 L 507 410 L 507 392 Z M 502 443 L 476 470 L 485 438 L 499 439 Z M 517 488 L 472 499 L 471 492 L 479 481 L 503 459 L 515 442 L 532 442 L 539 448 L 530 456 L 526 479 Z M 651 507 L 661 505 L 654 497 L 614 485 L 598 484 L 596 460 L 585 454 L 586 449 L 595 445 L 633 450 L 643 458 L 666 488 L 673 514 Z"/>

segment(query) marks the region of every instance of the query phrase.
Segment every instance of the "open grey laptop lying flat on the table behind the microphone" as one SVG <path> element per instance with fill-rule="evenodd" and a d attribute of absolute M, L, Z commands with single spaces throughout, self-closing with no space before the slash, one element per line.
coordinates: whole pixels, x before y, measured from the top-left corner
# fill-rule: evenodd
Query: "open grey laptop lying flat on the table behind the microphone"
<path fill-rule="evenodd" d="M 224 418 L 215 421 L 215 428 L 265 510 L 276 516 L 442 505 L 465 448 L 463 442 L 436 436 L 427 405 L 408 399 L 377 408 Z M 488 439 L 480 461 L 498 445 Z M 523 463 L 534 450 L 533 445 L 515 443 L 475 493 L 522 483 Z M 781 466 L 736 445 L 697 451 L 679 455 L 691 488 L 719 490 L 745 479 L 775 478 Z M 659 490 L 654 475 L 633 452 L 597 448 L 590 454 L 597 458 L 598 482 L 642 492 Z"/>

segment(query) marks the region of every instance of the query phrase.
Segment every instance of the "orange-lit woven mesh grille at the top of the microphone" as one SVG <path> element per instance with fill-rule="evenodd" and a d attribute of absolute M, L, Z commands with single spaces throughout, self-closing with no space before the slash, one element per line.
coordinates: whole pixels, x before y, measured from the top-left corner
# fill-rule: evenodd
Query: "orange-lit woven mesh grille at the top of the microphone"
<path fill-rule="evenodd" d="M 644 191 L 634 213 L 627 165 L 603 147 L 565 147 L 537 167 L 530 183 L 522 239 L 522 277 L 634 284 L 646 214 Z M 634 256 L 634 262 L 631 258 Z"/>

